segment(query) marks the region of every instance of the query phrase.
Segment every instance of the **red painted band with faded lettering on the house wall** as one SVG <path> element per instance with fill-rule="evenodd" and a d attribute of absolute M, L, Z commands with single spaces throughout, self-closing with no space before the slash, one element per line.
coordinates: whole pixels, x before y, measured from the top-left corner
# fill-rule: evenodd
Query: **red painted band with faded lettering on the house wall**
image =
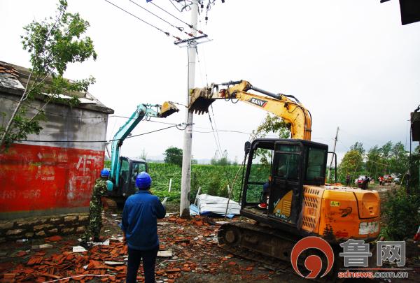
<path fill-rule="evenodd" d="M 0 212 L 89 206 L 104 151 L 14 144 L 0 154 Z"/>

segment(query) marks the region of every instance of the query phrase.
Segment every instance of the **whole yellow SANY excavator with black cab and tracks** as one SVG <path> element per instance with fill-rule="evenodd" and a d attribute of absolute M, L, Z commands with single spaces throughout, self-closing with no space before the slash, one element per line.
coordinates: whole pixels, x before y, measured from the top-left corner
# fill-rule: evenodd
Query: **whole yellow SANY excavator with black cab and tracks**
<path fill-rule="evenodd" d="M 241 80 L 191 89 L 190 111 L 206 113 L 216 99 L 239 100 L 273 113 L 290 123 L 291 132 L 290 139 L 257 138 L 245 143 L 239 201 L 241 215 L 255 223 L 223 224 L 218 237 L 225 249 L 276 266 L 276 259 L 290 261 L 294 243 L 308 235 L 324 238 L 335 252 L 339 242 L 377 238 L 379 194 L 325 183 L 328 145 L 311 141 L 311 115 L 298 99 Z M 265 167 L 258 152 L 267 150 L 272 161 Z M 262 186 L 269 176 L 268 204 L 261 209 Z"/>

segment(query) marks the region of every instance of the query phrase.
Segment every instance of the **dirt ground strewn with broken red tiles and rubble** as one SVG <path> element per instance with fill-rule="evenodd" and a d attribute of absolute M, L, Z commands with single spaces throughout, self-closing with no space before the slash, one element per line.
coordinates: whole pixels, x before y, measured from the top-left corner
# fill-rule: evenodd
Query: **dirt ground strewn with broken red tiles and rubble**
<path fill-rule="evenodd" d="M 391 187 L 375 187 L 384 194 Z M 386 195 L 386 194 L 385 194 Z M 160 250 L 172 256 L 158 257 L 157 282 L 306 282 L 295 275 L 291 266 L 270 270 L 262 263 L 240 259 L 218 246 L 217 233 L 221 221 L 246 221 L 177 216 L 177 205 L 168 206 L 167 217 L 158 223 Z M 54 236 L 0 245 L 0 282 L 125 282 L 127 247 L 118 222 L 120 212 L 106 212 L 102 235 L 109 245 L 92 247 L 87 252 L 73 252 L 80 235 Z M 46 247 L 39 245 L 48 244 Z M 37 246 L 38 245 L 38 246 Z M 418 244 L 407 243 L 408 280 L 388 282 L 420 282 Z M 109 262 L 111 261 L 111 262 Z M 78 277 L 76 277 L 78 276 Z M 66 280 L 62 278 L 73 277 Z M 139 282 L 144 278 L 139 273 Z M 346 282 L 353 282 L 347 280 Z"/>

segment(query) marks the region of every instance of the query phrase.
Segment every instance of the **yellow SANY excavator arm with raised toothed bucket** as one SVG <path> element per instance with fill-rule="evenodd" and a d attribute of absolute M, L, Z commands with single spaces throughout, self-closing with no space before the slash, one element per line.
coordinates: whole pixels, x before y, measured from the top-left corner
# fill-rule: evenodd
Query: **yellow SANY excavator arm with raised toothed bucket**
<path fill-rule="evenodd" d="M 219 87 L 226 88 L 219 90 Z M 250 90 L 265 94 L 265 96 L 249 93 Z M 191 89 L 189 109 L 199 114 L 207 113 L 210 104 L 216 99 L 238 99 L 262 108 L 262 110 L 273 113 L 290 123 L 292 138 L 311 140 L 311 114 L 294 96 L 267 92 L 258 87 L 253 87 L 246 80 L 241 80 L 211 85 L 211 87 L 206 88 Z"/>

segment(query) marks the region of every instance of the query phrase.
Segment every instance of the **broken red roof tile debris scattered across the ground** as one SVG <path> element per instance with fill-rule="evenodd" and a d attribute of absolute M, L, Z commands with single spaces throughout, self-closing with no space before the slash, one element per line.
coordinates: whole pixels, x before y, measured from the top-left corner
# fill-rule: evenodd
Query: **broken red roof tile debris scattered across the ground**
<path fill-rule="evenodd" d="M 186 273 L 216 275 L 223 268 L 244 280 L 256 280 L 255 275 L 250 275 L 255 270 L 254 266 L 237 263 L 235 256 L 226 255 L 218 249 L 215 239 L 220 225 L 211 225 L 204 217 L 193 217 L 190 220 L 169 217 L 165 222 L 169 224 L 158 226 L 160 249 L 172 249 L 174 259 L 158 259 L 155 268 L 157 280 L 183 282 L 182 276 Z M 127 266 L 111 266 L 105 263 L 124 262 L 127 259 L 125 243 L 110 240 L 108 246 L 99 245 L 87 252 L 73 253 L 72 246 L 78 245 L 76 240 L 53 236 L 45 241 L 56 242 L 52 244 L 55 249 L 32 250 L 29 253 L 20 251 L 15 256 L 20 256 L 22 263 L 0 263 L 0 283 L 48 282 L 62 278 L 66 279 L 60 280 L 60 283 L 125 281 Z M 198 260 L 203 257 L 207 257 L 207 260 Z M 144 280 L 140 272 L 138 280 Z"/>

